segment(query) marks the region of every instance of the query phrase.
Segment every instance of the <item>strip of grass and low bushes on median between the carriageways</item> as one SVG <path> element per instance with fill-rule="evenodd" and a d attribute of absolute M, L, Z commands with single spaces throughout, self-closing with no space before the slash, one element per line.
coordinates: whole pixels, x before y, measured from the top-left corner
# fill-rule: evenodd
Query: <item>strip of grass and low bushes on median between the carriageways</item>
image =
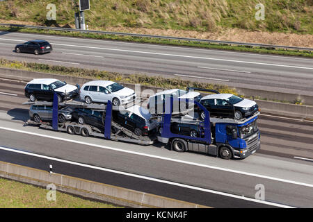
<path fill-rule="evenodd" d="M 94 78 L 101 80 L 111 80 L 119 83 L 131 83 L 162 87 L 166 89 L 186 89 L 187 86 L 199 87 L 204 89 L 218 90 L 220 93 L 237 94 L 236 89 L 228 87 L 227 85 L 218 85 L 211 83 L 193 82 L 190 80 L 183 80 L 181 78 L 164 78 L 162 76 L 147 76 L 145 74 L 131 74 L 124 75 L 120 73 L 113 73 L 109 71 L 99 71 L 97 69 L 81 69 L 77 67 L 64 67 L 58 65 L 47 65 L 35 62 L 19 62 L 0 59 L 0 67 L 10 69 L 22 69 L 26 71 L 38 71 L 49 74 L 59 74 L 65 76 L 77 76 L 83 78 Z"/>

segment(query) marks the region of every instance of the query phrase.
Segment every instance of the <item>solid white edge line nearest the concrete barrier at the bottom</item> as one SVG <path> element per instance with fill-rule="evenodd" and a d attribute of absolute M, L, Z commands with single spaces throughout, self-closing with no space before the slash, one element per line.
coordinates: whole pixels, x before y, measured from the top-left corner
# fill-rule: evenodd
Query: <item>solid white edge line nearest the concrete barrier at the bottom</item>
<path fill-rule="evenodd" d="M 73 162 L 73 161 L 70 161 L 70 160 L 58 159 L 56 157 L 49 157 L 49 156 L 46 156 L 46 155 L 40 155 L 40 154 L 36 154 L 36 153 L 29 153 L 29 152 L 25 152 L 25 151 L 19 151 L 19 150 L 13 149 L 13 148 L 6 148 L 6 147 L 3 147 L 3 146 L 0 146 L 0 149 L 3 150 L 3 151 L 10 151 L 10 152 L 14 152 L 14 153 L 21 153 L 21 154 L 24 154 L 24 155 L 31 155 L 31 156 L 34 156 L 34 157 L 45 158 L 47 160 L 54 160 L 54 161 L 58 161 L 58 162 L 65 162 L 67 164 L 77 165 L 77 166 L 80 166 L 80 167 L 87 167 L 87 168 L 90 168 L 90 169 L 97 169 L 97 170 L 100 170 L 100 171 L 106 171 L 106 172 L 111 172 L 111 173 L 118 173 L 118 174 L 121 174 L 121 175 L 131 176 L 131 177 L 134 177 L 134 178 L 141 178 L 141 179 L 144 179 L 144 180 L 151 180 L 151 181 L 154 181 L 154 182 L 161 182 L 161 183 L 165 183 L 165 184 L 168 184 L 168 185 L 174 185 L 174 186 L 177 186 L 177 187 L 184 187 L 184 188 L 188 188 L 188 189 L 195 189 L 195 190 L 198 190 L 198 191 L 204 191 L 204 192 L 211 193 L 211 194 L 218 194 L 218 195 L 228 196 L 228 197 L 237 198 L 237 199 L 241 199 L 241 200 L 248 200 L 248 201 L 255 202 L 255 203 L 262 203 L 262 204 L 265 204 L 265 205 L 272 205 L 272 206 L 275 206 L 275 207 L 294 208 L 294 207 L 291 207 L 291 206 L 288 206 L 288 205 L 282 205 L 282 204 L 278 204 L 278 203 L 271 203 L 271 202 L 268 202 L 266 200 L 257 200 L 257 199 L 248 198 L 248 197 L 244 197 L 244 196 L 237 196 L 237 195 L 234 195 L 234 194 L 227 194 L 227 193 L 224 193 L 224 192 L 221 192 L 221 191 L 214 191 L 214 190 L 211 190 L 211 189 L 204 189 L 204 188 L 201 188 L 201 187 L 195 187 L 195 186 L 191 186 L 191 185 L 184 185 L 184 184 L 178 183 L 178 182 L 171 182 L 171 181 L 168 181 L 168 180 L 161 180 L 161 179 L 157 179 L 157 178 L 150 178 L 150 177 L 147 177 L 147 176 L 141 176 L 141 175 L 137 175 L 137 174 L 134 174 L 134 173 L 126 173 L 126 172 L 117 171 L 117 170 L 113 170 L 113 169 L 107 169 L 107 168 L 104 168 L 104 167 L 95 167 L 95 166 L 92 166 L 92 165 L 82 164 L 82 163 L 79 163 L 79 162 Z"/>

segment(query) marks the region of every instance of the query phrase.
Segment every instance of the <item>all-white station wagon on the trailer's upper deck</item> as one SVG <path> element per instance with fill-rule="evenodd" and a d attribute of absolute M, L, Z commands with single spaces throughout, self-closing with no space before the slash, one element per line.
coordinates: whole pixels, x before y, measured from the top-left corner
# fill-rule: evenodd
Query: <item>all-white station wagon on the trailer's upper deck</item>
<path fill-rule="evenodd" d="M 111 101 L 113 105 L 126 105 L 136 99 L 136 94 L 133 89 L 120 85 L 120 83 L 94 80 L 81 87 L 80 97 L 81 101 L 87 104 Z"/>

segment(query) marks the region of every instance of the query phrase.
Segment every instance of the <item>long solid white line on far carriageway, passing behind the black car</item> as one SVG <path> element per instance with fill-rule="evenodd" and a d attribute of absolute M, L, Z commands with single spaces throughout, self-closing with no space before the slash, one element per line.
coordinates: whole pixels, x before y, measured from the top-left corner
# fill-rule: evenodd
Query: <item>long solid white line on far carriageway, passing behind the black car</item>
<path fill-rule="evenodd" d="M 10 40 L 10 39 L 2 39 L 0 40 Z M 11 40 L 11 41 L 22 41 L 22 40 Z M 295 69 L 310 69 L 313 70 L 312 67 L 298 67 L 298 66 L 291 66 L 291 65 L 279 65 L 279 64 L 271 64 L 271 63 L 263 63 L 263 62 L 247 62 L 241 60 L 225 60 L 219 58 L 207 58 L 207 57 L 199 57 L 199 56 L 184 56 L 184 55 L 177 55 L 177 54 L 168 54 L 168 53 L 153 53 L 148 51 L 134 51 L 134 50 L 126 50 L 126 49 L 111 49 L 111 48 L 102 48 L 102 47 L 94 47 L 94 46 L 79 46 L 74 44 L 58 44 L 58 43 L 51 43 L 54 45 L 59 46 L 72 46 L 72 47 L 80 47 L 80 48 L 88 48 L 88 49 L 104 49 L 109 51 L 125 51 L 131 53 L 144 53 L 144 54 L 151 54 L 151 55 L 158 55 L 158 56 L 174 56 L 174 57 L 182 57 L 182 58 L 198 58 L 203 60 L 215 60 L 215 61 L 223 61 L 223 62 L 239 62 L 239 63 L 246 63 L 246 64 L 254 64 L 254 65 L 268 65 L 274 67 L 287 67 L 287 68 L 295 68 Z"/>

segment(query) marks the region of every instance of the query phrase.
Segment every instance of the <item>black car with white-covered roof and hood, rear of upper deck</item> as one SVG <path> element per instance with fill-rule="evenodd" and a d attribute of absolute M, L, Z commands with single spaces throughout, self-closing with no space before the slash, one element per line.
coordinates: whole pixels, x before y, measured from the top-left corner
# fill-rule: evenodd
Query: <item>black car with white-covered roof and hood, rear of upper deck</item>
<path fill-rule="evenodd" d="M 31 80 L 24 88 L 24 93 L 30 101 L 53 101 L 54 93 L 58 102 L 79 97 L 79 85 L 70 85 L 55 78 L 37 78 Z"/>

